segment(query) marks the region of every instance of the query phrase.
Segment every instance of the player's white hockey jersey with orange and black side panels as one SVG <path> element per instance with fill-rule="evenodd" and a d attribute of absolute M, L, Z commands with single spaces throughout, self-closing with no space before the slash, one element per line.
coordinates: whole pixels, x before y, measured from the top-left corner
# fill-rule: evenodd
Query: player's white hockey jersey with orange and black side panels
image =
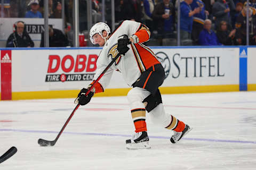
<path fill-rule="evenodd" d="M 103 89 L 106 89 L 113 71 L 118 70 L 122 73 L 125 82 L 132 86 L 132 84 L 140 77 L 141 73 L 149 67 L 158 64 L 156 55 L 150 48 L 141 44 L 147 41 L 150 37 L 149 29 L 135 21 L 123 21 L 121 25 L 111 34 L 103 46 L 101 53 L 97 60 L 97 71 L 93 80 L 96 80 L 107 65 L 116 57 L 117 38 L 122 35 L 132 36 L 137 35 L 139 43 L 130 44 L 128 52 L 124 56 L 117 58 L 116 62 L 111 65 L 109 70 L 99 80 Z"/>

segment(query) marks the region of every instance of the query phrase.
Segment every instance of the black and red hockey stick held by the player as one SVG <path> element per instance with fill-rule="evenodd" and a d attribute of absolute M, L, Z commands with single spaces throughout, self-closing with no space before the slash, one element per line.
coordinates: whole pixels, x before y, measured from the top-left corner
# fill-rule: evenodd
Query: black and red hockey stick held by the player
<path fill-rule="evenodd" d="M 88 89 L 88 91 L 86 92 L 85 96 L 87 96 L 89 94 L 89 92 L 92 90 L 92 88 L 96 85 L 96 83 L 101 79 L 101 77 L 107 72 L 107 70 L 110 68 L 110 66 L 117 60 L 117 58 L 120 56 L 121 54 L 117 54 L 117 56 L 108 64 L 108 66 L 105 68 L 105 70 L 102 71 L 102 73 L 99 75 L 99 77 L 93 82 L 92 86 Z M 68 117 L 68 120 L 65 122 L 65 124 L 63 125 L 62 129 L 60 130 L 59 134 L 57 135 L 57 137 L 55 138 L 55 140 L 53 141 L 49 141 L 49 140 L 44 140 L 44 139 L 38 139 L 38 144 L 40 146 L 46 147 L 46 146 L 54 146 L 55 143 L 57 142 L 57 140 L 59 139 L 61 133 L 63 132 L 63 130 L 66 128 L 68 122 L 70 121 L 71 117 L 74 115 L 74 113 L 76 112 L 76 110 L 78 109 L 78 107 L 80 106 L 80 104 L 77 104 L 76 107 L 74 108 L 73 112 L 70 114 L 70 116 Z"/>

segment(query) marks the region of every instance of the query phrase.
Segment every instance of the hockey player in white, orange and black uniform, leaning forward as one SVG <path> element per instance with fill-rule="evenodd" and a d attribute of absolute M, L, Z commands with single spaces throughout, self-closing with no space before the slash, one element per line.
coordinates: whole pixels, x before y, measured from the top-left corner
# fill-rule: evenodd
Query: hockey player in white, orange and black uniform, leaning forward
<path fill-rule="evenodd" d="M 93 90 L 85 96 L 90 88 L 83 88 L 75 103 L 86 105 L 94 93 L 103 92 L 109 84 L 113 71 L 122 73 L 124 80 L 132 89 L 127 98 L 130 103 L 131 116 L 135 126 L 135 134 L 126 140 L 127 149 L 150 148 L 146 125 L 146 111 L 151 121 L 163 128 L 173 130 L 172 143 L 177 143 L 191 128 L 173 115 L 164 111 L 158 87 L 164 81 L 164 68 L 150 48 L 143 45 L 150 38 L 149 29 L 135 21 L 125 20 L 111 34 L 106 23 L 96 23 L 90 30 L 93 44 L 103 47 L 97 60 L 96 80 L 115 56 L 121 56 L 102 76 Z"/>

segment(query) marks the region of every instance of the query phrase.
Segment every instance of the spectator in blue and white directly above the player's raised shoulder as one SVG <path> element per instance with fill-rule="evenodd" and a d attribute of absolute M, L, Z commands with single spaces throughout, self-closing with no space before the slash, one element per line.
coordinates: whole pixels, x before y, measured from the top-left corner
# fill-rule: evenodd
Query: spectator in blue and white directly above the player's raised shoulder
<path fill-rule="evenodd" d="M 143 13 L 143 21 L 148 26 L 150 32 L 153 32 L 154 30 L 154 23 L 153 23 L 153 17 L 152 13 L 154 11 L 155 7 L 155 1 L 154 0 L 141 0 L 143 1 L 143 7 L 142 7 L 142 13 Z"/>

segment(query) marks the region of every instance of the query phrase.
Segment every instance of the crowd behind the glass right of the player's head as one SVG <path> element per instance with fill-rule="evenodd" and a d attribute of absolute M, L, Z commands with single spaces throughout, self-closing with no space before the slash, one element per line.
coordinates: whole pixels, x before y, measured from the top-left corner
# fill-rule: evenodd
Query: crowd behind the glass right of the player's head
<path fill-rule="evenodd" d="M 155 44 L 175 45 L 178 1 L 118 2 L 117 19 L 145 23 L 157 40 Z M 250 0 L 250 45 L 256 45 L 255 6 L 256 1 Z M 246 7 L 245 0 L 180 0 L 181 45 L 246 45 Z"/>

